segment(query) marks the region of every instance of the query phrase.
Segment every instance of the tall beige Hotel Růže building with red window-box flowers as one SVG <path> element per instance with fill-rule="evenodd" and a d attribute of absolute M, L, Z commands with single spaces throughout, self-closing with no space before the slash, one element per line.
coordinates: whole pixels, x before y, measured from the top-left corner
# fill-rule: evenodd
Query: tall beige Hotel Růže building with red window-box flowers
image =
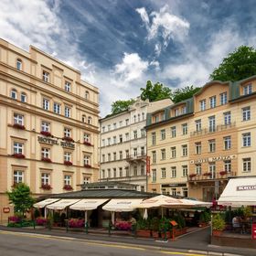
<path fill-rule="evenodd" d="M 0 39 L 0 221 L 16 183 L 38 197 L 98 180 L 99 90 L 80 76 Z"/>

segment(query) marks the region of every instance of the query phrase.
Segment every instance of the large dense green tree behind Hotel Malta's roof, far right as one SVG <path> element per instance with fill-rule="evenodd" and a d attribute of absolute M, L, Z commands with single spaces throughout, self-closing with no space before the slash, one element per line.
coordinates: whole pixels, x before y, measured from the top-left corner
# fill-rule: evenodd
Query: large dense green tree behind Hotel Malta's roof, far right
<path fill-rule="evenodd" d="M 219 67 L 210 74 L 211 80 L 242 80 L 256 74 L 256 50 L 240 46 L 222 60 Z"/>

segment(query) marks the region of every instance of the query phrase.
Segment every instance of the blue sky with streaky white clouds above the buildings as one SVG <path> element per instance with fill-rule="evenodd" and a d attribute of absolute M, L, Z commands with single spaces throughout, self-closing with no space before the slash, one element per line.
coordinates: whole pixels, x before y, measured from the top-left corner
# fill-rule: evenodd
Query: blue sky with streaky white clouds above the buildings
<path fill-rule="evenodd" d="M 0 37 L 80 69 L 104 116 L 147 80 L 203 86 L 229 52 L 256 47 L 255 1 L 1 0 Z"/>

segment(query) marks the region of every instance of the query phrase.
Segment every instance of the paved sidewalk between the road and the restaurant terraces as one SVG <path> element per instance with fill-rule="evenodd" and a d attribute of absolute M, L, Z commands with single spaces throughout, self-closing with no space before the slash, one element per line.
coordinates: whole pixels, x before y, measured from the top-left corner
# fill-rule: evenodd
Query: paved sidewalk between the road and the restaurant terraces
<path fill-rule="evenodd" d="M 5 226 L 0 226 L 0 230 L 5 231 L 14 231 L 14 232 L 24 232 L 24 233 L 34 233 L 40 235 L 48 235 L 59 237 L 60 239 L 77 239 L 77 240 L 93 240 L 94 242 L 99 243 L 121 243 L 121 244 L 129 244 L 129 245 L 137 245 L 140 247 L 146 247 L 151 250 L 165 250 L 165 251 L 188 251 L 195 253 L 202 253 L 203 255 L 211 255 L 209 252 L 219 252 L 215 255 L 245 255 L 245 256 L 255 256 L 256 250 L 251 249 L 240 249 L 240 248 L 229 248 L 222 246 L 212 246 L 209 245 L 209 233 L 210 229 L 199 229 L 194 232 L 188 233 L 179 237 L 177 240 L 172 241 L 169 240 L 167 242 L 164 241 L 155 241 L 153 239 L 141 239 L 141 238 L 133 238 L 131 236 L 123 236 L 123 235 L 107 235 L 107 234 L 95 234 L 95 233 L 81 233 L 65 230 L 55 230 L 52 229 L 49 231 L 48 229 L 27 229 L 27 228 L 7 228 Z M 90 230 L 89 230 L 90 231 Z M 224 254 L 225 253 L 225 254 Z M 229 254 L 227 254 L 229 253 Z"/>

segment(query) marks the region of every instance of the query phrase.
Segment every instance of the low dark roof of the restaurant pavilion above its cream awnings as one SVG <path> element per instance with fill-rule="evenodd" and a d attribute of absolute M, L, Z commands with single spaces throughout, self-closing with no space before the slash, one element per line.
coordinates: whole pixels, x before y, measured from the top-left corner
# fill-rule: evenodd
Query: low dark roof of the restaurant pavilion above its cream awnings
<path fill-rule="evenodd" d="M 61 193 L 51 198 L 149 198 L 155 193 L 140 192 L 127 189 L 88 189 L 75 192 Z"/>

